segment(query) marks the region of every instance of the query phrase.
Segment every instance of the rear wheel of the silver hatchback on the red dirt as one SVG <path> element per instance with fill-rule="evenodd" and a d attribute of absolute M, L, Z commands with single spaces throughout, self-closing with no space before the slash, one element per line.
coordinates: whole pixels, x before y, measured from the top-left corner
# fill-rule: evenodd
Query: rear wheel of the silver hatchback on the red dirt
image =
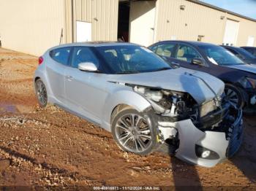
<path fill-rule="evenodd" d="M 39 106 L 45 108 L 48 104 L 48 95 L 45 84 L 41 79 L 37 79 L 35 82 L 35 90 Z"/>

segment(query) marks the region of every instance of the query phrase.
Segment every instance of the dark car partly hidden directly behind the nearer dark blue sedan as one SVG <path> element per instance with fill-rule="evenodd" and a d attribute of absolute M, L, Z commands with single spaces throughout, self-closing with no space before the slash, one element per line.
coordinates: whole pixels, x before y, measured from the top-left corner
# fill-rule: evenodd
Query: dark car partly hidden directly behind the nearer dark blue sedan
<path fill-rule="evenodd" d="M 245 63 L 256 64 L 255 55 L 252 55 L 247 50 L 244 50 L 241 47 L 230 47 L 230 46 L 222 46 L 222 47 L 225 47 L 225 49 L 232 52 L 234 55 L 236 55 L 238 58 L 240 58 Z"/>

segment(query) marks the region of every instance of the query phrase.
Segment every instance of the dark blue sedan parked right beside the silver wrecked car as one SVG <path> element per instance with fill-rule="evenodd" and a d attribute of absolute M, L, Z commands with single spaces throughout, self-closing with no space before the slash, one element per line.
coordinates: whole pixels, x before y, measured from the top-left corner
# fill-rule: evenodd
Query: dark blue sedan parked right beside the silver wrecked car
<path fill-rule="evenodd" d="M 225 82 L 231 104 L 256 110 L 256 66 L 241 61 L 232 52 L 203 42 L 165 41 L 149 47 L 168 63 L 211 74 Z"/>

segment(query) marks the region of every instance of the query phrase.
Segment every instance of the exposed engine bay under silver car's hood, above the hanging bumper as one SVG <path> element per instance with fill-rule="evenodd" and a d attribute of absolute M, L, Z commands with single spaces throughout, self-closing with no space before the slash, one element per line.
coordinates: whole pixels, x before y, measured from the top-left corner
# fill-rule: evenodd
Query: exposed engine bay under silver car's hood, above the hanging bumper
<path fill-rule="evenodd" d="M 176 122 L 190 119 L 200 129 L 216 125 L 230 107 L 223 103 L 224 95 L 199 105 L 189 93 L 140 86 L 135 86 L 134 90 L 145 96 L 161 120 Z M 211 115 L 211 120 L 208 115 Z"/>

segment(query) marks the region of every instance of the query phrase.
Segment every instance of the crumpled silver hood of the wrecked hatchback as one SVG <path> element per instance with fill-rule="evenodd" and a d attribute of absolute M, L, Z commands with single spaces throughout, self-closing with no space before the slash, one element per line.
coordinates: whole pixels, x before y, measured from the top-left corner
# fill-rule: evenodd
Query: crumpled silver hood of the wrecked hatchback
<path fill-rule="evenodd" d="M 108 81 L 186 92 L 192 95 L 198 104 L 203 104 L 203 102 L 210 101 L 215 97 L 211 89 L 217 95 L 221 95 L 225 88 L 224 82 L 210 74 L 184 68 L 140 74 L 109 75 Z"/>

